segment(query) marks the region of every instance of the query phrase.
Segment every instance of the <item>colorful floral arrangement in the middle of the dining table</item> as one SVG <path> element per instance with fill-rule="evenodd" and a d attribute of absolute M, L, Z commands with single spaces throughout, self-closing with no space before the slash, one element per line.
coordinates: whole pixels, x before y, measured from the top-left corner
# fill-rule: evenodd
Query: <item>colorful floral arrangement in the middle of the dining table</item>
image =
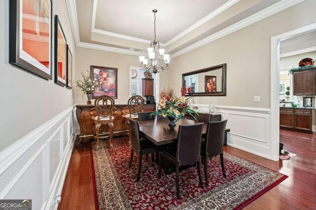
<path fill-rule="evenodd" d="M 193 118 L 193 114 L 197 114 L 188 106 L 188 100 L 185 96 L 179 97 L 173 94 L 173 89 L 163 90 L 160 93 L 160 100 L 157 107 L 157 111 L 153 112 L 151 116 L 162 115 L 168 117 L 170 120 L 169 126 L 175 126 L 175 122 L 184 117 L 185 114 L 190 114 Z"/>

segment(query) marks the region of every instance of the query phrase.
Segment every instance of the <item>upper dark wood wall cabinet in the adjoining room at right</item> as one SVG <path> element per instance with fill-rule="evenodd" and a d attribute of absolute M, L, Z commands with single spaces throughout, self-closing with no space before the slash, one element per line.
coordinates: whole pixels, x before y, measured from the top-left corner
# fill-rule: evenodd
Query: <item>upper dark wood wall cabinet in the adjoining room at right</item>
<path fill-rule="evenodd" d="M 293 94 L 316 95 L 316 68 L 293 71 Z"/>

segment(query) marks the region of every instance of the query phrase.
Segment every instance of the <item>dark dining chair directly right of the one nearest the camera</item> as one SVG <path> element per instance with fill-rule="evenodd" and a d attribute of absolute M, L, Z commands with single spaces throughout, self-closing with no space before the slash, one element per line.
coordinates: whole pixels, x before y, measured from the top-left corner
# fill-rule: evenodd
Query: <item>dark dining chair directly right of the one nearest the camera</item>
<path fill-rule="evenodd" d="M 209 122 L 206 128 L 205 141 L 201 142 L 201 156 L 204 162 L 205 183 L 208 186 L 207 160 L 220 155 L 223 176 L 226 177 L 223 157 L 224 135 L 227 120 Z"/>

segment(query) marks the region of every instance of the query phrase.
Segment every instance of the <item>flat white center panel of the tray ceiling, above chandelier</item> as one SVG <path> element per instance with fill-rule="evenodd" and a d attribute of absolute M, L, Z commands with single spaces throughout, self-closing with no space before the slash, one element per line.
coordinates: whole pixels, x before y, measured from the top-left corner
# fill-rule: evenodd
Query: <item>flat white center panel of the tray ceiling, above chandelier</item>
<path fill-rule="evenodd" d="M 165 43 L 228 0 L 98 0 L 95 29 Z"/>

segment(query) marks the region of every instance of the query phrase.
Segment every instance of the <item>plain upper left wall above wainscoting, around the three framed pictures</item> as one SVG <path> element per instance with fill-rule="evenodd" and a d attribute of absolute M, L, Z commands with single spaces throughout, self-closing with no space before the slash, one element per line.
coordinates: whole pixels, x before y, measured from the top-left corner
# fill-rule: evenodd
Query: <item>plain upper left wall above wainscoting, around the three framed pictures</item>
<path fill-rule="evenodd" d="M 0 1 L 0 151 L 74 104 L 73 91 L 8 63 L 9 0 Z M 76 61 L 75 43 L 65 0 L 53 1 Z M 53 68 L 54 69 L 54 68 Z M 53 77 L 54 78 L 54 77 Z"/>

